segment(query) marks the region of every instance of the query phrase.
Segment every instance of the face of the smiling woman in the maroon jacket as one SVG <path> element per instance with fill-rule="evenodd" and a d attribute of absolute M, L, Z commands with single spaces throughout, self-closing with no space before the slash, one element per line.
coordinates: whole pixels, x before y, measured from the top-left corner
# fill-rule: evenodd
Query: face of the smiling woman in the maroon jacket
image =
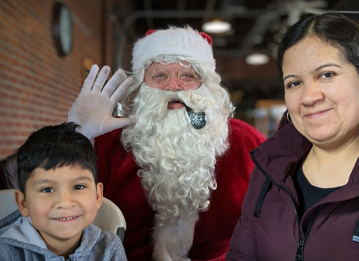
<path fill-rule="evenodd" d="M 285 101 L 313 144 L 340 146 L 358 136 L 359 75 L 336 47 L 306 37 L 284 54 Z"/>

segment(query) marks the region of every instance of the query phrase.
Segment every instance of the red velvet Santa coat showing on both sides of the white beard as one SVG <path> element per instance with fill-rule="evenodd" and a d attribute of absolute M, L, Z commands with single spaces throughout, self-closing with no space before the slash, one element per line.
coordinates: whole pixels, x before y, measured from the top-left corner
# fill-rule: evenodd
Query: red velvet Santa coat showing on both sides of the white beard
<path fill-rule="evenodd" d="M 241 215 L 244 194 L 254 167 L 249 151 L 265 141 L 256 129 L 238 119 L 230 119 L 229 150 L 215 165 L 217 189 L 211 193 L 210 207 L 200 213 L 195 226 L 192 260 L 225 260 L 229 240 Z M 123 246 L 129 261 L 152 260 L 151 228 L 154 212 L 150 208 L 140 178 L 139 166 L 131 152 L 122 146 L 121 129 L 96 138 L 98 181 L 104 196 L 113 201 L 126 219 Z"/>

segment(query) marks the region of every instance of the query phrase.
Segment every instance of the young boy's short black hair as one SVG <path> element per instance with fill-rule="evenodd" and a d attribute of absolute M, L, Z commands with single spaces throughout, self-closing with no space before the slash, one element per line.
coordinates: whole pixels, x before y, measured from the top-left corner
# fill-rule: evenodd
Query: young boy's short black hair
<path fill-rule="evenodd" d="M 36 168 L 55 170 L 62 166 L 80 166 L 92 172 L 97 184 L 97 156 L 80 125 L 66 122 L 33 132 L 17 151 L 19 188 L 25 195 L 27 180 Z"/>

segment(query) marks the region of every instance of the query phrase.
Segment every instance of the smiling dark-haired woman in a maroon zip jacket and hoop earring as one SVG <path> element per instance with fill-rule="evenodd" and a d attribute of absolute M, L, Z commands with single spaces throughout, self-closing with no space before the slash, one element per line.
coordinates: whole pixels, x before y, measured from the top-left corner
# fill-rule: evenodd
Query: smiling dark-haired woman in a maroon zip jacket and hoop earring
<path fill-rule="evenodd" d="M 311 15 L 278 51 L 288 121 L 255 169 L 227 260 L 359 260 L 359 26 Z"/>

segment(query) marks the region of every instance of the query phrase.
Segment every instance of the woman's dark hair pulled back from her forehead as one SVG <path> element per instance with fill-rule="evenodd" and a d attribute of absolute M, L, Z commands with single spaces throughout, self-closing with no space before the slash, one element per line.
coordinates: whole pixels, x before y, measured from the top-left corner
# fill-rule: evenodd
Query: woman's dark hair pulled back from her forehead
<path fill-rule="evenodd" d="M 325 13 L 311 14 L 300 20 L 284 34 L 278 49 L 278 67 L 283 75 L 285 51 L 308 35 L 320 38 L 323 42 L 338 48 L 343 59 L 355 66 L 359 73 L 359 25 L 345 15 Z"/>

